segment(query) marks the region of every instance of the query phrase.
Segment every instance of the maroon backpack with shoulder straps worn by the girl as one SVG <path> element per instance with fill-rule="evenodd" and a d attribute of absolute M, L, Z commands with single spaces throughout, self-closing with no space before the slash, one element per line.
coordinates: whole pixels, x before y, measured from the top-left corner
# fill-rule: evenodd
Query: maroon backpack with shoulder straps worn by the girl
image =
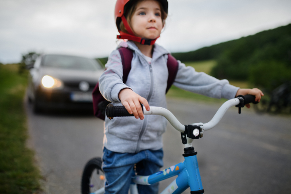
<path fill-rule="evenodd" d="M 123 78 L 122 81 L 123 83 L 126 83 L 128 76 L 129 76 L 129 71 L 131 69 L 131 61 L 133 58 L 133 50 L 121 47 L 118 49 L 120 56 L 121 56 L 121 62 L 122 62 L 122 67 L 123 67 Z M 166 88 L 166 93 L 172 86 L 172 84 L 175 81 L 177 72 L 178 72 L 178 61 L 171 55 L 168 54 L 168 62 L 167 62 L 167 67 L 169 71 L 169 77 L 167 81 L 167 88 Z M 96 84 L 93 93 L 93 109 L 94 109 L 94 115 L 97 118 L 100 118 L 102 120 L 105 120 L 105 110 L 106 106 L 110 103 L 107 101 L 100 93 L 99 91 L 99 83 Z"/>

